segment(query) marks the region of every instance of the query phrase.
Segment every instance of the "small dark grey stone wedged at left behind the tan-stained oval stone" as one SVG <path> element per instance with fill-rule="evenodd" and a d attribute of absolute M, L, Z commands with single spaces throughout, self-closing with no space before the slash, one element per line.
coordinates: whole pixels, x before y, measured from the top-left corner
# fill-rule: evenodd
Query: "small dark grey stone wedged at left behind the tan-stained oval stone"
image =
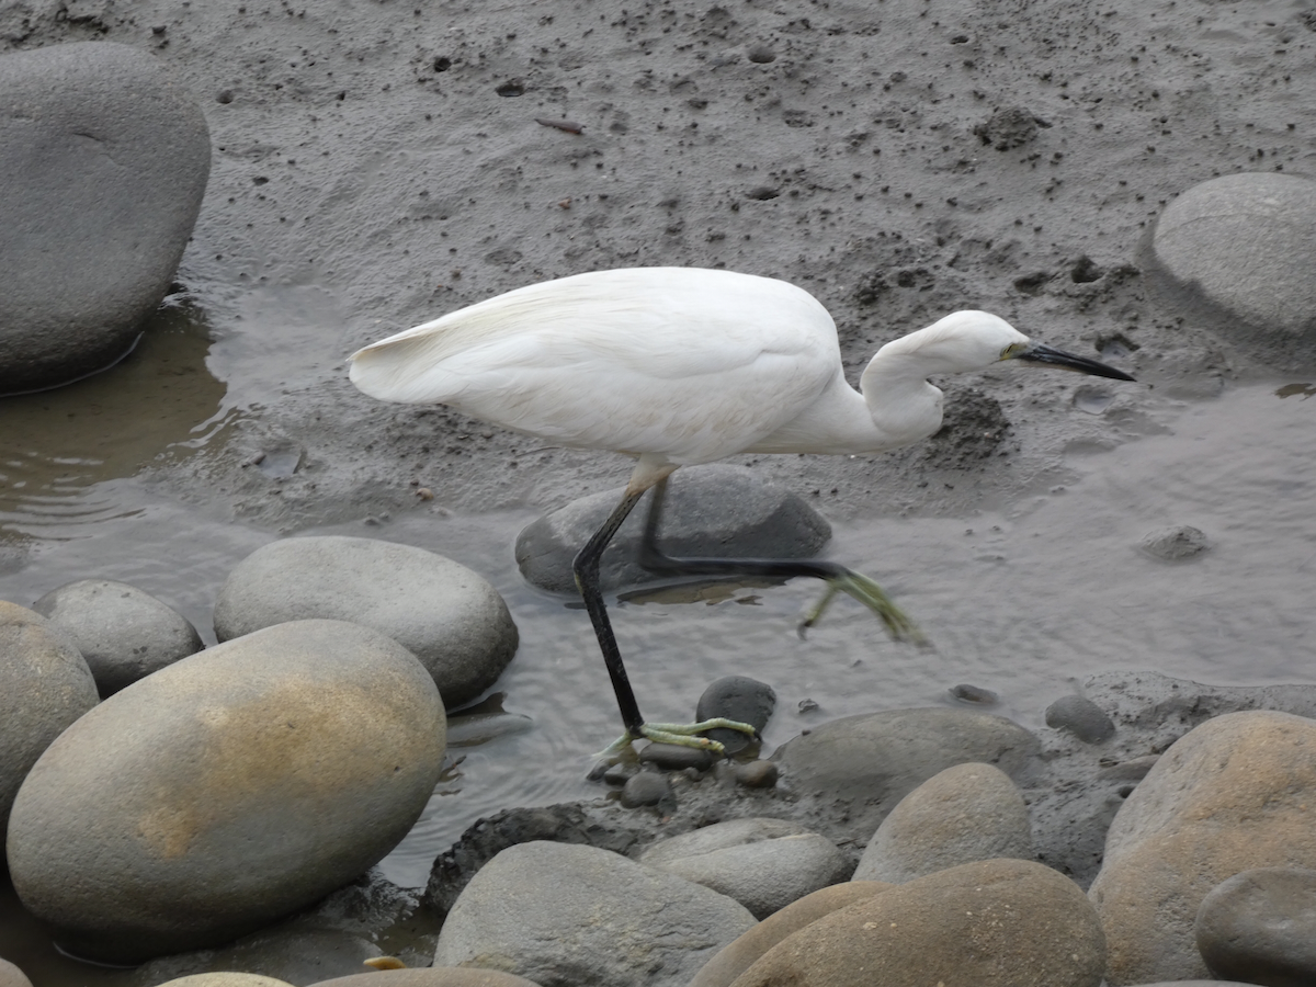
<path fill-rule="evenodd" d="M 74 640 L 101 696 L 112 696 L 203 647 L 187 617 L 128 583 L 66 583 L 32 608 Z"/>

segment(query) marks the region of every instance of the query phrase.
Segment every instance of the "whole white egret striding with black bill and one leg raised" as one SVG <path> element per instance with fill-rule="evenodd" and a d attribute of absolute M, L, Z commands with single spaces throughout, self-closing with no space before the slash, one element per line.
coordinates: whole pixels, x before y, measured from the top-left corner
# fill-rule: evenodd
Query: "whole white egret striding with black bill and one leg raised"
<path fill-rule="evenodd" d="M 655 487 L 641 562 L 669 574 L 811 575 L 871 607 L 896 638 L 917 628 L 867 576 L 832 562 L 672 559 L 654 540 L 666 479 L 736 453 L 871 454 L 941 426 L 937 374 L 1001 361 L 1132 380 L 1032 342 L 1003 318 L 954 312 L 888 342 L 851 388 L 836 324 L 807 291 L 771 278 L 692 267 L 594 271 L 530 284 L 391 336 L 351 357 L 351 382 L 386 401 L 446 404 L 559 446 L 637 459 L 621 503 L 575 557 L 626 733 L 721 750 L 694 736 L 746 724 L 646 724 L 599 590 L 599 557 Z M 808 621 L 807 621 L 808 622 Z"/>

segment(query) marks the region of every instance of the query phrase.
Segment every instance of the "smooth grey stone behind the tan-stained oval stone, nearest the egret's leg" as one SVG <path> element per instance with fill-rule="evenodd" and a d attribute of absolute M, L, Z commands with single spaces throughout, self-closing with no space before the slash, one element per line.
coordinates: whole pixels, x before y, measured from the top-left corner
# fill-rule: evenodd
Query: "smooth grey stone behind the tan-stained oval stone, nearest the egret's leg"
<path fill-rule="evenodd" d="M 228 641 L 287 620 L 349 620 L 388 634 L 429 669 L 449 708 L 492 686 L 517 630 L 497 590 L 411 545 L 338 536 L 286 538 L 247 555 L 215 603 Z"/>

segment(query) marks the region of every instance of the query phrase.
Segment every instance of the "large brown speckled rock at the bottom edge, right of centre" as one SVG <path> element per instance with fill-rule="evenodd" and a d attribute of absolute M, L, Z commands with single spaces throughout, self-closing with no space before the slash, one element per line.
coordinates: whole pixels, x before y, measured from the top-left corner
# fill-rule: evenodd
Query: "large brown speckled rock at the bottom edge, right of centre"
<path fill-rule="evenodd" d="M 1104 962 L 1078 884 L 1030 861 L 982 861 L 825 915 L 733 984 L 1096 987 Z"/>

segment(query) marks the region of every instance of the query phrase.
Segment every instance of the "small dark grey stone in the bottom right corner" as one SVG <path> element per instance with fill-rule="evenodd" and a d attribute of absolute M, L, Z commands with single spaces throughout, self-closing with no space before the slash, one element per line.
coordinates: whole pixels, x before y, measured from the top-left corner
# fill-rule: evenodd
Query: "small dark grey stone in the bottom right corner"
<path fill-rule="evenodd" d="M 1258 867 L 1211 890 L 1194 923 L 1219 978 L 1267 987 L 1316 983 L 1316 870 Z"/>

